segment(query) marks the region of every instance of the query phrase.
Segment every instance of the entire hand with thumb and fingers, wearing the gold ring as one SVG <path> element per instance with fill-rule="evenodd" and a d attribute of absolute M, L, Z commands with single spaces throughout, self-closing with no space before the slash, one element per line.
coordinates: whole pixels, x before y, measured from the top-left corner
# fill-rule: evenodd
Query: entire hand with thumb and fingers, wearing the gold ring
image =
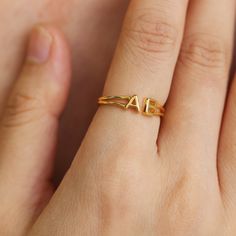
<path fill-rule="evenodd" d="M 166 114 L 99 107 L 56 191 L 70 45 L 34 28 L 0 119 L 0 235 L 236 235 L 234 18 L 234 0 L 132 0 L 103 94 Z"/>

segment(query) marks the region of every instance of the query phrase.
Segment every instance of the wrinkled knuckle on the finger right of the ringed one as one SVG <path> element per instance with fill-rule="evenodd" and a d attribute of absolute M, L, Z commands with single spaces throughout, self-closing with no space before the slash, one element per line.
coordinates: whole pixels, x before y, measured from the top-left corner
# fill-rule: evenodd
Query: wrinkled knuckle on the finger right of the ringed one
<path fill-rule="evenodd" d="M 187 66 L 201 69 L 226 67 L 224 43 L 215 36 L 193 35 L 184 39 L 180 61 Z"/>

